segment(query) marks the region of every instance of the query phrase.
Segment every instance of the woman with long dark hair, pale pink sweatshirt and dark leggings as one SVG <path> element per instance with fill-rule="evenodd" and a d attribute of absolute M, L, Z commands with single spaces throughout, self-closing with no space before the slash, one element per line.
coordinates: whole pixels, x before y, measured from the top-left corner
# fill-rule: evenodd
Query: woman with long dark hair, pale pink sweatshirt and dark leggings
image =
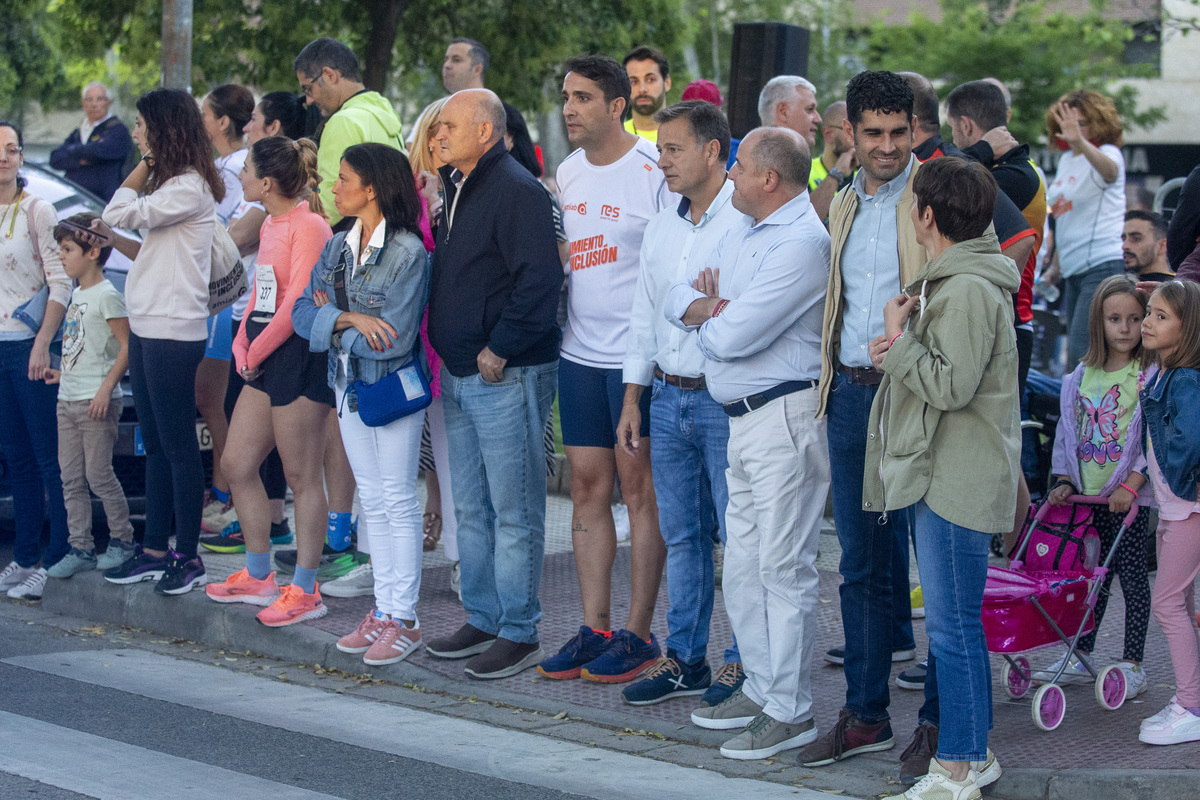
<path fill-rule="evenodd" d="M 146 451 L 146 531 L 112 583 L 157 581 L 181 595 L 205 583 L 196 553 L 204 468 L 196 439 L 196 371 L 204 357 L 214 201 L 226 187 L 212 163 L 191 95 L 156 89 L 138 100 L 133 142 L 142 152 L 104 209 L 97 233 L 133 259 L 125 283 L 130 312 L 130 384 Z M 108 225 L 140 228 L 142 242 Z M 106 242 L 107 243 L 107 242 Z M 175 549 L 168 545 L 175 522 Z"/>

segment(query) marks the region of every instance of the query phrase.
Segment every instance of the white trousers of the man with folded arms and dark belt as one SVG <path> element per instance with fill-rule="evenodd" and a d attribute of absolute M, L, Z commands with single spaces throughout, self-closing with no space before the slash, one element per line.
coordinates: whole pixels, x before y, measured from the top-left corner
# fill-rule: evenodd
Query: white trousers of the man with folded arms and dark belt
<path fill-rule="evenodd" d="M 826 421 L 808 389 L 730 420 L 725 608 L 742 691 L 779 722 L 812 717 L 817 540 L 829 492 Z"/>

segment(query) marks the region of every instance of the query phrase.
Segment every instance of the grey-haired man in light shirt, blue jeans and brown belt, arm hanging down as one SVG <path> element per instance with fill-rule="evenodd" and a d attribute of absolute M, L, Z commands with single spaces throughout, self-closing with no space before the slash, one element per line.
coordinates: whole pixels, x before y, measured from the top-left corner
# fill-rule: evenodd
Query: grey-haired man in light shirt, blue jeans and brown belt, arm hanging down
<path fill-rule="evenodd" d="M 667 546 L 667 657 L 628 686 L 622 698 L 648 705 L 703 693 L 716 705 L 742 685 L 737 644 L 725 651 L 714 676 L 706 661 L 713 615 L 713 545 L 725 541 L 725 450 L 730 421 L 709 396 L 704 356 L 696 333 L 679 330 L 662 313 L 667 290 L 704 264 L 743 215 L 730 201 L 733 181 L 725 163 L 730 124 L 712 103 L 689 101 L 661 109 L 659 168 L 667 188 L 683 196 L 678 207 L 650 219 L 642 239 L 641 271 L 623 368 L 625 399 L 617 444 L 634 456 L 640 440 L 640 401 L 650 399 L 650 467 L 659 501 L 659 529 Z M 696 270 L 692 269 L 691 272 Z M 707 690 L 707 691 L 706 691 Z"/>

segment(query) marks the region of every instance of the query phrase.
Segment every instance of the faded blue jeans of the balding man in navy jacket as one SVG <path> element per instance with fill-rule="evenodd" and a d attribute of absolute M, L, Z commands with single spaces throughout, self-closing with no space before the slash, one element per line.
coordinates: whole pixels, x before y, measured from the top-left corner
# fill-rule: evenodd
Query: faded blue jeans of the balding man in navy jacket
<path fill-rule="evenodd" d="M 467 622 L 510 642 L 538 640 L 546 549 L 542 435 L 558 361 L 509 367 L 499 383 L 442 369 L 450 485 Z"/>

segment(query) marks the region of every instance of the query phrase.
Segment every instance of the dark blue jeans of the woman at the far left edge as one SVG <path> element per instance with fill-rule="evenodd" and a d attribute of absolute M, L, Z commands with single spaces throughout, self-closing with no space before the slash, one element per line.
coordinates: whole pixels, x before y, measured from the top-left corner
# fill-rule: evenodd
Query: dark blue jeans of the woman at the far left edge
<path fill-rule="evenodd" d="M 59 475 L 59 387 L 29 379 L 34 339 L 0 341 L 0 451 L 7 463 L 18 566 L 49 567 L 67 554 L 67 509 Z M 46 501 L 49 500 L 49 509 Z M 50 517 L 50 546 L 42 554 L 42 521 Z"/>

